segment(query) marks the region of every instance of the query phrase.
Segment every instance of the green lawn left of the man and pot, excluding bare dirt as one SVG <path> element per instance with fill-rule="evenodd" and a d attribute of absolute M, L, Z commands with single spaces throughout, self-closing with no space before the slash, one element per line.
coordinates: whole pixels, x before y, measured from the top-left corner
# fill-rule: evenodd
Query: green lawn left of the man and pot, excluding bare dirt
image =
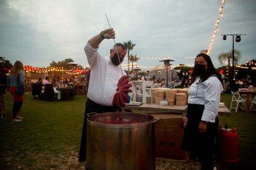
<path fill-rule="evenodd" d="M 24 119 L 11 123 L 12 99 L 7 94 L 8 118 L 0 122 L 0 169 L 57 168 L 54 162 L 65 153 L 77 157 L 85 95 L 58 102 L 34 100 L 31 92 L 24 97 Z"/>

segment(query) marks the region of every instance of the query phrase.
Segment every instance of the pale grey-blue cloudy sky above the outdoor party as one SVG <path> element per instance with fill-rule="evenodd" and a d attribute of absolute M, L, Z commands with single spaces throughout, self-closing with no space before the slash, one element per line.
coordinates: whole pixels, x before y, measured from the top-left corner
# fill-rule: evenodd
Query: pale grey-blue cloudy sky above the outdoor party
<path fill-rule="evenodd" d="M 151 57 L 173 57 L 173 65 L 193 64 L 195 56 L 208 49 L 220 15 L 221 0 L 182 1 L 0 1 L 0 56 L 14 64 L 48 67 L 71 58 L 87 65 L 83 47 L 88 39 L 109 28 L 105 13 L 116 31 L 116 42 L 132 40 L 130 52 L 138 57 L 138 67 L 160 63 Z M 256 1 L 226 0 L 220 29 L 210 52 L 215 67 L 218 54 L 232 49 L 232 36 L 223 41 L 221 34 L 247 34 L 234 48 L 241 51 L 239 65 L 256 59 Z M 99 52 L 109 55 L 113 39 L 104 40 Z M 127 63 L 127 59 L 123 63 Z M 147 69 L 147 68 L 145 68 Z"/>

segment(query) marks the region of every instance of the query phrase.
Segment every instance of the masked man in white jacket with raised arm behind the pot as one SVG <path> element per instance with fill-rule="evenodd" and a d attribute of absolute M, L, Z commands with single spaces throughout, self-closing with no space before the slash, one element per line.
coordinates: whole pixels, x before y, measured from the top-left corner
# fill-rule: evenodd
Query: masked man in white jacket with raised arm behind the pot
<path fill-rule="evenodd" d="M 91 68 L 90 82 L 87 93 L 87 102 L 85 104 L 85 116 L 83 119 L 82 139 L 80 144 L 79 161 L 86 161 L 86 142 L 87 142 L 87 113 L 106 113 L 117 111 L 113 107 L 113 97 L 116 93 L 117 82 L 122 77 L 120 63 L 126 56 L 126 46 L 117 43 L 110 50 L 109 59 L 106 59 L 98 53 L 98 48 L 103 39 L 115 38 L 113 28 L 101 31 L 91 38 L 85 46 L 85 54 Z M 118 55 L 117 55 L 118 53 Z"/>

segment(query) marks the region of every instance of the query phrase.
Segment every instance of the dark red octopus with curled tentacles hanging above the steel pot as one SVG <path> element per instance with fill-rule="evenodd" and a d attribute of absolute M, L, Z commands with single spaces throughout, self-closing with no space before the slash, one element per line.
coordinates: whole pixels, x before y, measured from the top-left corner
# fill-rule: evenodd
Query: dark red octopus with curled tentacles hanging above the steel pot
<path fill-rule="evenodd" d="M 126 106 L 126 103 L 129 101 L 127 93 L 132 92 L 129 89 L 130 87 L 132 87 L 132 84 L 129 83 L 129 76 L 122 76 L 117 83 L 116 94 L 114 94 L 112 102 L 114 107 L 124 108 Z"/>

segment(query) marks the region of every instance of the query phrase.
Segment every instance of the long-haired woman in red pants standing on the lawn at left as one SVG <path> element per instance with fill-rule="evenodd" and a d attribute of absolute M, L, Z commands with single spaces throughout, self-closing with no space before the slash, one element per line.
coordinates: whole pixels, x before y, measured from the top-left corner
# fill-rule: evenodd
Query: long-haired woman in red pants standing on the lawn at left
<path fill-rule="evenodd" d="M 23 95 L 17 94 L 16 92 L 18 84 L 20 87 L 25 89 L 25 71 L 23 68 L 23 63 L 20 61 L 16 61 L 14 63 L 14 66 L 11 68 L 10 74 L 7 78 L 7 89 L 11 92 L 12 99 L 14 100 L 14 106 L 12 108 L 12 122 L 19 122 L 23 119 L 22 116 L 20 116 Z"/>

